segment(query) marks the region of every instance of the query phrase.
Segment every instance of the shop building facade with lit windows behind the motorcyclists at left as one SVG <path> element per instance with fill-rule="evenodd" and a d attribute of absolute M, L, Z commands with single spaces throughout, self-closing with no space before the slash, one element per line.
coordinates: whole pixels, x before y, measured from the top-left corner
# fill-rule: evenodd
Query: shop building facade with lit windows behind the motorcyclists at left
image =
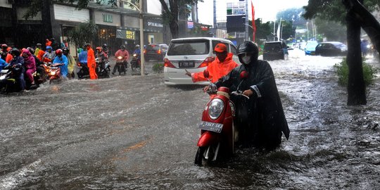
<path fill-rule="evenodd" d="M 90 0 L 87 8 L 78 10 L 72 4 L 60 4 L 43 0 L 44 10 L 33 18 L 25 19 L 28 3 L 25 0 L 0 0 L 0 44 L 26 47 L 44 44 L 45 39 L 56 39 L 58 44 L 68 39 L 70 30 L 80 23 L 93 21 L 99 28 L 98 35 L 91 44 L 101 46 L 108 44 L 110 53 L 127 46 L 129 51 L 140 44 L 139 10 L 129 6 L 131 1 L 118 0 L 118 6 L 107 3 L 96 4 Z M 149 6 L 147 6 L 149 4 Z M 156 6 L 151 6 L 156 4 Z M 137 5 L 138 6 L 138 5 Z M 138 7 L 137 7 L 138 8 Z M 168 42 L 167 29 L 160 16 L 159 0 L 144 0 L 144 44 Z M 169 30 L 170 31 L 170 30 Z M 78 47 L 83 44 L 77 44 Z M 75 44 L 70 45 L 71 53 L 75 53 Z"/>

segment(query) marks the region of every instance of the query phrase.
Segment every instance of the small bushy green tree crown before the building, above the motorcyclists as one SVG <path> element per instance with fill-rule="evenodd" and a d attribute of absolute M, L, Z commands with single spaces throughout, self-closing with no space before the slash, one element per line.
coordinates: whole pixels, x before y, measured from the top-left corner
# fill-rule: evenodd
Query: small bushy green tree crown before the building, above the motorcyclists
<path fill-rule="evenodd" d="M 87 23 L 80 23 L 73 30 L 68 32 L 70 43 L 74 43 L 76 46 L 83 46 L 86 42 L 91 42 L 98 34 L 98 25 L 93 21 L 87 21 Z"/>

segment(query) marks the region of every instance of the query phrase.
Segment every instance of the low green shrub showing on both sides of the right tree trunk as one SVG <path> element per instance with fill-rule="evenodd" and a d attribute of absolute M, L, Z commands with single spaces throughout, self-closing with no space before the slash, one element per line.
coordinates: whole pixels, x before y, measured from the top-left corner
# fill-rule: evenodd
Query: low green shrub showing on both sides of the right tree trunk
<path fill-rule="evenodd" d="M 348 65 L 346 58 L 343 58 L 341 63 L 336 63 L 334 68 L 336 69 L 336 75 L 338 75 L 338 84 L 346 87 L 348 84 Z M 373 68 L 371 65 L 368 65 L 363 61 L 363 77 L 366 87 L 374 82 L 377 72 L 378 70 L 376 68 Z"/>

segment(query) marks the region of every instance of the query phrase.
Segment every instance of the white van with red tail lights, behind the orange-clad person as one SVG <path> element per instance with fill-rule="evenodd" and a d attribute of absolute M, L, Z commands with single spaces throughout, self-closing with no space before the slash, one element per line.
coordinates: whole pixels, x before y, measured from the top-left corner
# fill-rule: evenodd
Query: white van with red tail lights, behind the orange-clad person
<path fill-rule="evenodd" d="M 164 58 L 164 82 L 167 85 L 175 84 L 208 84 L 205 82 L 194 83 L 191 77 L 185 75 L 189 72 L 202 72 L 208 64 L 213 62 L 215 54 L 213 50 L 216 44 L 223 43 L 227 50 L 234 53 L 233 59 L 239 64 L 236 56 L 236 46 L 228 39 L 213 37 L 192 37 L 172 39 Z"/>

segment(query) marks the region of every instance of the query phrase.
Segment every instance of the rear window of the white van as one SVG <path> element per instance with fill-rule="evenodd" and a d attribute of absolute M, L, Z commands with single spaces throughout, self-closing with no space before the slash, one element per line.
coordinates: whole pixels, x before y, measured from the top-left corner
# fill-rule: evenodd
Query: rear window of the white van
<path fill-rule="evenodd" d="M 168 56 L 203 55 L 210 52 L 208 40 L 186 40 L 172 42 L 167 50 Z"/>

